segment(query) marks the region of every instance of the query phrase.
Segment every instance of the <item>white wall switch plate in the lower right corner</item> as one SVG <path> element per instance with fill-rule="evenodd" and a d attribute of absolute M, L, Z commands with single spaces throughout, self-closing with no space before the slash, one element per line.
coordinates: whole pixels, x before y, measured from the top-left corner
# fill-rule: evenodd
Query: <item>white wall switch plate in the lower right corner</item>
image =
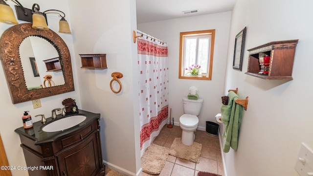
<path fill-rule="evenodd" d="M 295 170 L 300 176 L 313 176 L 313 150 L 303 142 L 295 163 Z"/>

